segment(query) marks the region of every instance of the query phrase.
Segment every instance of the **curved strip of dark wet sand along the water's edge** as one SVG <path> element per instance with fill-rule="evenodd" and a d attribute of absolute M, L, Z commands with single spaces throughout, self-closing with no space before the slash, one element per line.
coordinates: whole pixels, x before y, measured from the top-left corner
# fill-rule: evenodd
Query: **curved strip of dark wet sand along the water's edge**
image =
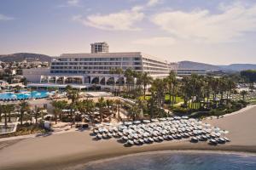
<path fill-rule="evenodd" d="M 167 143 L 167 142 L 166 142 Z M 172 145 L 172 146 L 171 146 Z M 133 155 L 141 155 L 141 154 L 154 154 L 154 153 L 164 153 L 164 152 L 173 152 L 174 154 L 177 152 L 183 153 L 206 153 L 206 154 L 234 154 L 241 156 L 256 156 L 256 147 L 250 146 L 224 146 L 217 148 L 216 146 L 211 146 L 208 144 L 195 144 L 195 146 L 191 146 L 189 143 L 187 144 L 159 144 L 154 145 L 154 147 L 144 148 L 141 150 L 137 148 L 136 150 L 123 150 L 123 151 L 114 151 L 111 152 L 103 152 L 101 154 L 88 154 L 77 153 L 74 155 L 66 155 L 59 157 L 51 157 L 49 159 L 44 159 L 40 161 L 34 162 L 24 162 L 15 164 L 7 167 L 0 167 L 0 169 L 20 169 L 20 170 L 28 170 L 34 169 L 37 167 L 38 170 L 55 170 L 55 169 L 73 169 L 73 167 L 84 166 L 88 163 L 93 163 L 97 161 L 108 161 L 112 159 L 118 159 L 119 157 L 124 156 L 133 156 Z"/>

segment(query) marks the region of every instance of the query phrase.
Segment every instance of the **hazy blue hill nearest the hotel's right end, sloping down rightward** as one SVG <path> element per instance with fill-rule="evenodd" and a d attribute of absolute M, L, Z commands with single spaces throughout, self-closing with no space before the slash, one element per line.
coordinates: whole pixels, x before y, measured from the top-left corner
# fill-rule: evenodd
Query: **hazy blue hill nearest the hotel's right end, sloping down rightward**
<path fill-rule="evenodd" d="M 219 71 L 220 67 L 217 65 L 209 65 L 205 63 L 198 63 L 193 61 L 180 61 L 178 62 L 178 69 L 191 69 L 191 70 L 206 70 L 206 71 Z"/>

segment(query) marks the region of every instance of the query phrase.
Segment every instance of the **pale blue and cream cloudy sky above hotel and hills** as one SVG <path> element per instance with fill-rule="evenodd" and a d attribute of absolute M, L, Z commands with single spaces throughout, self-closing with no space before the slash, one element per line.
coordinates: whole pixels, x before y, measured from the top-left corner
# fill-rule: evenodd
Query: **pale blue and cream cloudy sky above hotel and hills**
<path fill-rule="evenodd" d="M 256 0 L 1 0 L 0 54 L 143 52 L 256 64 Z"/>

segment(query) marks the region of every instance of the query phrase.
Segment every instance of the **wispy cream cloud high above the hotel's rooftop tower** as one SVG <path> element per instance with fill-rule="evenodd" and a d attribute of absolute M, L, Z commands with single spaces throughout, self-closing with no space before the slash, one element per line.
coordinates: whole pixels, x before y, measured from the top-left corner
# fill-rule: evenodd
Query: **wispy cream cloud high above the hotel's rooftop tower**
<path fill-rule="evenodd" d="M 140 28 L 135 24 L 143 20 L 144 14 L 138 8 L 123 10 L 113 14 L 92 14 L 86 17 L 77 15 L 73 20 L 82 23 L 84 26 L 92 26 L 108 31 L 138 31 Z"/>

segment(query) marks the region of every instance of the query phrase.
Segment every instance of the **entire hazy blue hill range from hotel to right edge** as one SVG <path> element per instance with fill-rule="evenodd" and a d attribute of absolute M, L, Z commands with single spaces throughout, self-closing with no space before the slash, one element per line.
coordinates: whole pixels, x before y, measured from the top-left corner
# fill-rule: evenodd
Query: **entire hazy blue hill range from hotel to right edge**
<path fill-rule="evenodd" d="M 209 65 L 205 63 L 193 61 L 180 61 L 178 62 L 178 69 L 199 69 L 206 71 L 244 71 L 256 70 L 256 65 L 253 64 L 232 64 L 232 65 Z"/>

